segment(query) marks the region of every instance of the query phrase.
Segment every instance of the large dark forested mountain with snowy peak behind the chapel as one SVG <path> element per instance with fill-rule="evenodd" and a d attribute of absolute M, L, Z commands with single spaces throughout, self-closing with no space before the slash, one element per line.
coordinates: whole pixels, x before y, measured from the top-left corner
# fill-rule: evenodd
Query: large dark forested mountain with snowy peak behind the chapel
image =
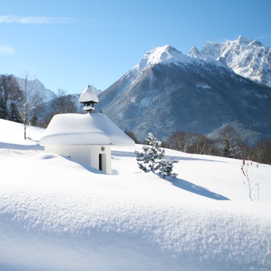
<path fill-rule="evenodd" d="M 177 131 L 210 134 L 229 122 L 249 131 L 247 141 L 271 136 L 271 88 L 169 45 L 147 52 L 99 101 L 97 110 L 138 139 L 148 132 L 159 138 Z"/>

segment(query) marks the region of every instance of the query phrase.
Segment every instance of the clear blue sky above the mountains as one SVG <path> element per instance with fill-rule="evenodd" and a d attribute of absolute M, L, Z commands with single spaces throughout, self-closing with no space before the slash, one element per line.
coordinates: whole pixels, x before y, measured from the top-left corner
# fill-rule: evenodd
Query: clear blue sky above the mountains
<path fill-rule="evenodd" d="M 104 90 L 144 53 L 238 35 L 271 46 L 271 0 L 0 0 L 0 74 L 46 88 Z"/>

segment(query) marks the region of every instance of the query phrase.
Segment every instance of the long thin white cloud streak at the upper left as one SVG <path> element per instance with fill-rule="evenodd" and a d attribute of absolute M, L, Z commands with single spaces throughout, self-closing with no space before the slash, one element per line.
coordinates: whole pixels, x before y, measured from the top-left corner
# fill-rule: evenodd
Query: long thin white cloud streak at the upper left
<path fill-rule="evenodd" d="M 67 18 L 67 17 L 24 17 L 24 16 L 14 16 L 14 15 L 5 15 L 0 16 L 0 23 L 6 23 L 6 24 L 12 24 L 12 23 L 18 23 L 18 24 L 70 24 L 74 22 L 75 19 Z"/>

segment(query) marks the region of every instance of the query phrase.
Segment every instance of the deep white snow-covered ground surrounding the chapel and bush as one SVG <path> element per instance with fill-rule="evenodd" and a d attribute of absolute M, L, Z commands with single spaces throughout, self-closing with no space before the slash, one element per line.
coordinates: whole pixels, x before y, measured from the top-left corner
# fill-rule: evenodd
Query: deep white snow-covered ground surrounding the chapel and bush
<path fill-rule="evenodd" d="M 0 270 L 271 270 L 271 166 L 166 150 L 177 179 L 114 147 L 112 175 L 45 154 L 43 130 L 0 120 Z M 252 191 L 256 198 L 256 187 Z"/>

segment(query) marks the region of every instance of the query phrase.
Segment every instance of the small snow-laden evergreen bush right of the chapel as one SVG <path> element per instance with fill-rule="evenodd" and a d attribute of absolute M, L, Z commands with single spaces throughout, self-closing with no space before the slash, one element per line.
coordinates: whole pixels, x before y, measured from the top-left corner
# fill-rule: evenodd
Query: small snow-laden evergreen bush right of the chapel
<path fill-rule="evenodd" d="M 143 145 L 143 152 L 135 151 L 137 164 L 139 169 L 144 172 L 156 172 L 163 174 L 165 176 L 172 176 L 176 178 L 177 173 L 172 173 L 173 163 L 178 163 L 176 159 L 166 158 L 165 149 L 161 148 L 162 142 L 157 140 L 151 133 L 148 134 L 148 138 L 145 139 L 145 143 L 148 145 Z"/>

